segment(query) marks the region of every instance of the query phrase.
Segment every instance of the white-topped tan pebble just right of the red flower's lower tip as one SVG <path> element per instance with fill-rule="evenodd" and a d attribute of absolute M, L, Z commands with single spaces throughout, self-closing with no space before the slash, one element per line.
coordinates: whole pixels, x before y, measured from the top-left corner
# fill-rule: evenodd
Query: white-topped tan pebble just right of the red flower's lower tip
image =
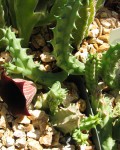
<path fill-rule="evenodd" d="M 28 116 L 28 118 L 30 120 L 35 120 L 40 117 L 41 110 L 29 110 L 29 113 L 31 114 L 31 116 Z"/>

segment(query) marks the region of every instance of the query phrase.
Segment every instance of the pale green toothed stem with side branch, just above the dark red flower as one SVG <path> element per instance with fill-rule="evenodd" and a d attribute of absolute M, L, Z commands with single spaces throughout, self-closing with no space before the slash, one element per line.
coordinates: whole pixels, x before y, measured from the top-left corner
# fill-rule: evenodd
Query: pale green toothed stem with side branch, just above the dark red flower
<path fill-rule="evenodd" d="M 13 60 L 5 65 L 8 73 L 11 74 L 22 74 L 23 77 L 51 86 L 55 81 L 63 81 L 67 78 L 67 73 L 58 72 L 58 73 L 48 73 L 41 71 L 39 69 L 40 64 L 35 64 L 33 57 L 27 55 L 26 48 L 21 47 L 21 39 L 16 38 L 15 33 L 11 31 L 11 28 L 2 29 L 3 38 L 0 40 L 6 41 L 7 47 L 6 50 L 10 52 Z M 2 46 L 2 45 L 0 45 Z"/>

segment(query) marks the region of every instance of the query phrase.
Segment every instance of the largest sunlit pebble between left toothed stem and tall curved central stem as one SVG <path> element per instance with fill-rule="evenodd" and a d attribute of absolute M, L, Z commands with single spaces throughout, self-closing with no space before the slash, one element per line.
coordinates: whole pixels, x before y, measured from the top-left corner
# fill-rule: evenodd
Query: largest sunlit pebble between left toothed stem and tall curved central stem
<path fill-rule="evenodd" d="M 40 58 L 43 62 L 53 62 L 55 61 L 55 58 L 53 57 L 53 55 L 51 55 L 48 52 L 44 52 L 40 55 Z"/>

